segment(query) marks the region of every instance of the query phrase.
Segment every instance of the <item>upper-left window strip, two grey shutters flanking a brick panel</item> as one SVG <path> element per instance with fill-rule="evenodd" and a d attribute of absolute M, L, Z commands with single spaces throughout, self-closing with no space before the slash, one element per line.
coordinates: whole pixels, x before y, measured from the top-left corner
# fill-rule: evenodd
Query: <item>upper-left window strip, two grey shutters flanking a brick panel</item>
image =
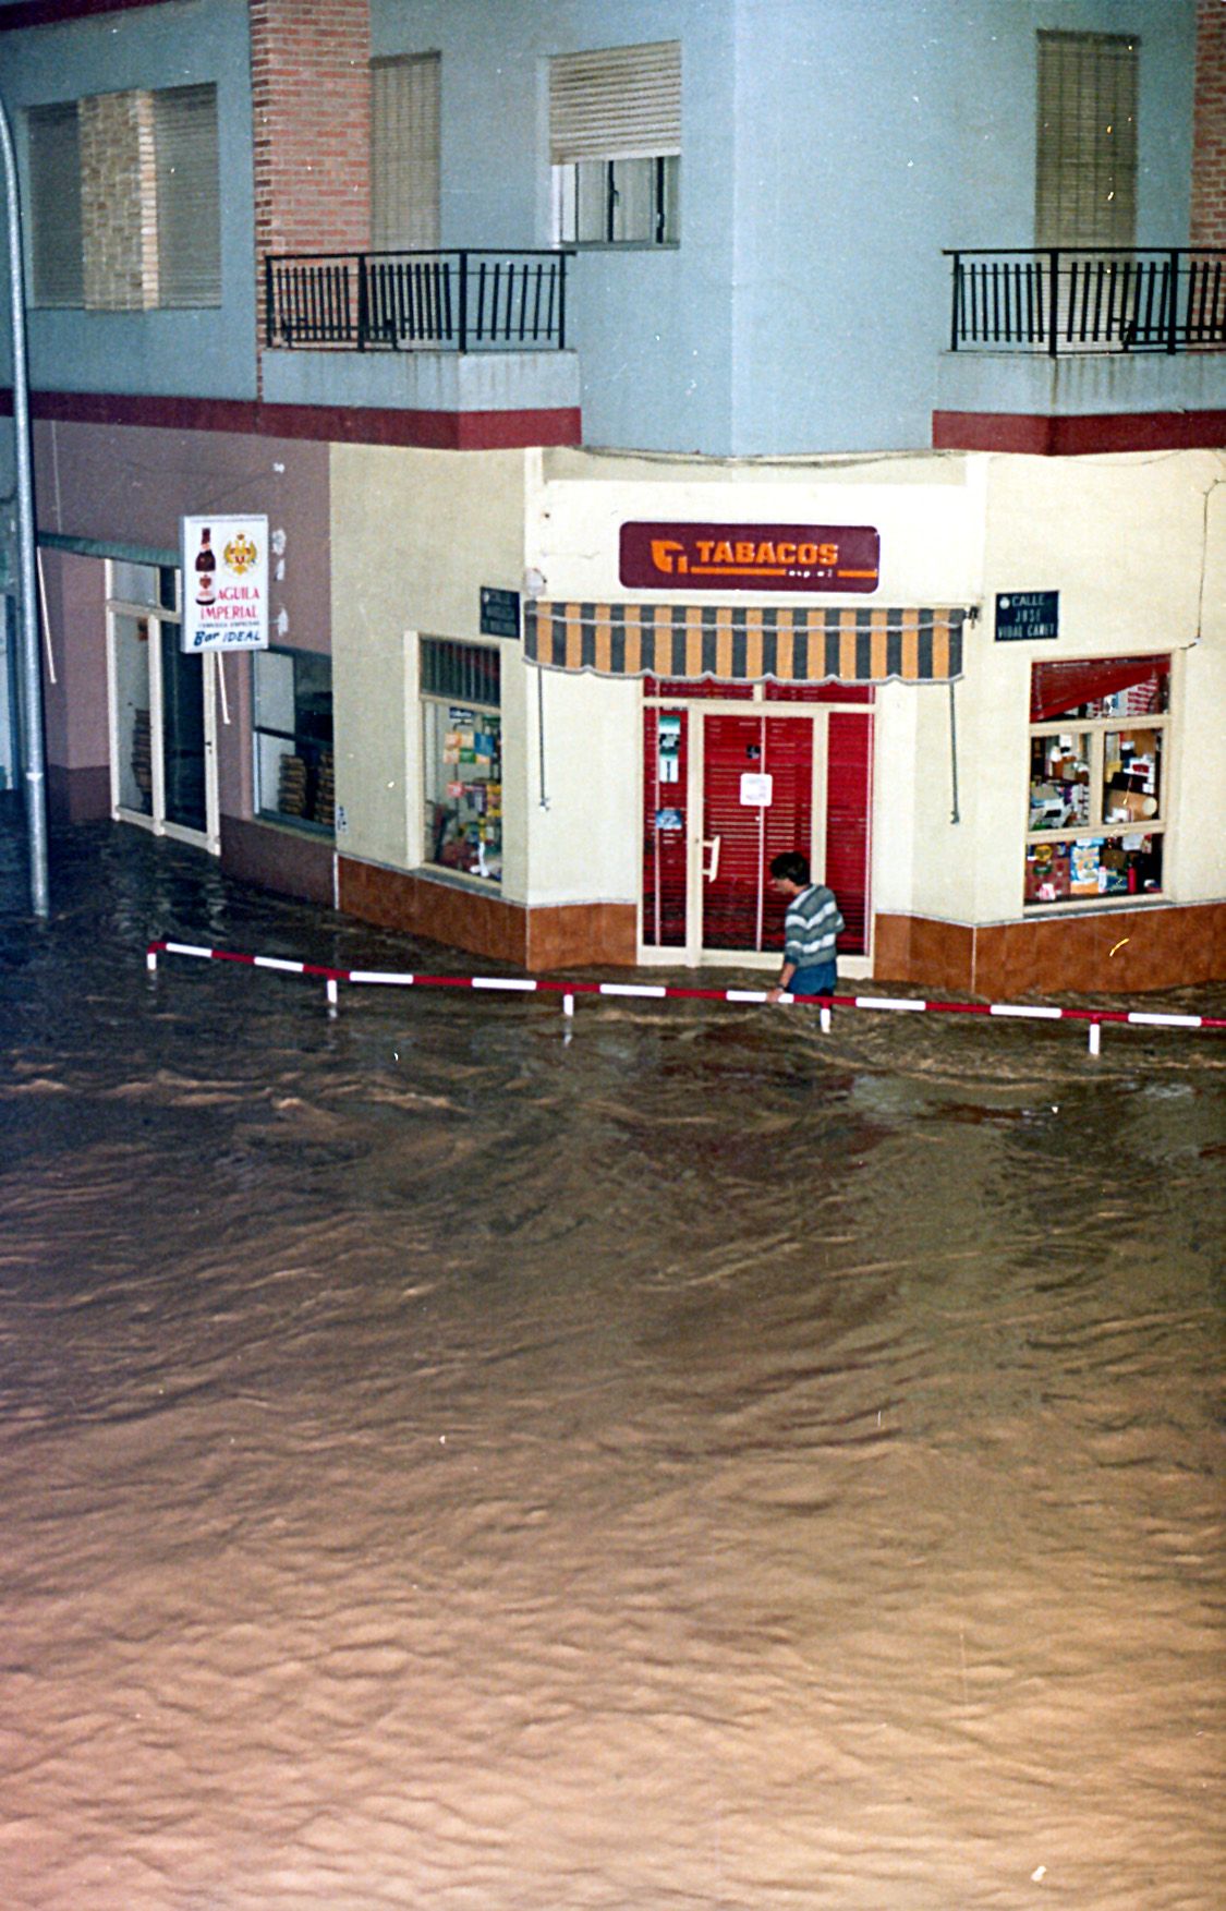
<path fill-rule="evenodd" d="M 216 86 L 34 107 L 27 132 L 36 306 L 222 302 Z"/>

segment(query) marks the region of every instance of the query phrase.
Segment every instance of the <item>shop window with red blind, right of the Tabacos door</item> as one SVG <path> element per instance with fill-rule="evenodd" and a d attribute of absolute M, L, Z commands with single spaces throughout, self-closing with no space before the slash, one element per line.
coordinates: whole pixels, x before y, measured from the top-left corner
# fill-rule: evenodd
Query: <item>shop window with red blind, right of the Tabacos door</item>
<path fill-rule="evenodd" d="M 1027 906 L 1161 892 L 1169 690 L 1165 655 L 1033 665 Z"/>

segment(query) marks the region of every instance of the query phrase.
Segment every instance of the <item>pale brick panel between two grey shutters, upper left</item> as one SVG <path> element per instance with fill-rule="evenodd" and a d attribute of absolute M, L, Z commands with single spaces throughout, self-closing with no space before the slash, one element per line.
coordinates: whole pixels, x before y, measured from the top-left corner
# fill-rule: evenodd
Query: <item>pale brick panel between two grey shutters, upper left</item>
<path fill-rule="evenodd" d="M 103 311 L 157 306 L 153 94 L 80 101 L 84 302 Z"/>

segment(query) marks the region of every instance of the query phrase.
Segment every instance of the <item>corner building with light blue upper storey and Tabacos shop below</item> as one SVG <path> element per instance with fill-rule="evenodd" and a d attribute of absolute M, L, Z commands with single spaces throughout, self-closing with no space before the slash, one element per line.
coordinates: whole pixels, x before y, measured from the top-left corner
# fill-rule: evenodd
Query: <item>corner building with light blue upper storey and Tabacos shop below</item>
<path fill-rule="evenodd" d="M 1220 8 L 19 0 L 0 52 L 57 814 L 531 969 L 773 965 L 802 848 L 850 977 L 1226 973 Z M 235 512 L 269 648 L 193 655 Z"/>

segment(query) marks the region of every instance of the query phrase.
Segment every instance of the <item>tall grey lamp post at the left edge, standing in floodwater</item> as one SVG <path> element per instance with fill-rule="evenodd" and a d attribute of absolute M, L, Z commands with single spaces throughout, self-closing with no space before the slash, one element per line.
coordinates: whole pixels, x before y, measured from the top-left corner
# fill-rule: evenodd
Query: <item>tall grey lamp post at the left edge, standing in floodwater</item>
<path fill-rule="evenodd" d="M 34 482 L 31 470 L 31 392 L 25 357 L 25 262 L 21 256 L 21 204 L 17 155 L 4 101 L 0 99 L 0 147 L 8 197 L 8 279 L 13 338 L 13 436 L 17 440 L 17 550 L 21 566 L 21 711 L 25 761 L 25 818 L 31 843 L 31 906 L 48 915 L 48 812 L 42 753 L 42 665 L 34 596 Z"/>

